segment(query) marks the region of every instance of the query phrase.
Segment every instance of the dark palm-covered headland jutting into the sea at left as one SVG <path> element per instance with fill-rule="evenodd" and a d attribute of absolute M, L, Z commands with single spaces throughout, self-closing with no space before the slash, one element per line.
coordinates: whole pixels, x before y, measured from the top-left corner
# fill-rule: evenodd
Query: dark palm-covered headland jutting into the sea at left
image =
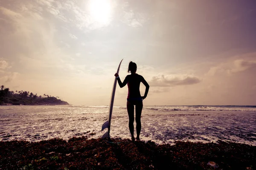
<path fill-rule="evenodd" d="M 4 85 L 1 85 L 0 89 L 0 105 L 69 105 L 58 96 L 38 96 L 29 91 L 10 91 Z"/>

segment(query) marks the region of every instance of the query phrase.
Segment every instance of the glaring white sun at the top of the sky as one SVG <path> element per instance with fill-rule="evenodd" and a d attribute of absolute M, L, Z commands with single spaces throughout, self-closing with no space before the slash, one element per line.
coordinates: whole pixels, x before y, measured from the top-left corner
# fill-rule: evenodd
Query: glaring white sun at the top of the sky
<path fill-rule="evenodd" d="M 111 17 L 110 0 L 90 0 L 89 1 L 90 16 L 98 23 L 107 24 Z"/>

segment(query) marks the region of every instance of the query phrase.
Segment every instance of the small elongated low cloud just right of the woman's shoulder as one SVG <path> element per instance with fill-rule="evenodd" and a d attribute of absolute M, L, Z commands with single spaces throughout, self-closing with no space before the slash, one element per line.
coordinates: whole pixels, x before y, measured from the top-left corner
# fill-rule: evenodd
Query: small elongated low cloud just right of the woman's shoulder
<path fill-rule="evenodd" d="M 152 86 L 159 87 L 170 87 L 177 85 L 192 85 L 201 82 L 201 79 L 194 75 L 189 74 L 160 74 L 158 76 L 152 77 L 149 82 Z"/>

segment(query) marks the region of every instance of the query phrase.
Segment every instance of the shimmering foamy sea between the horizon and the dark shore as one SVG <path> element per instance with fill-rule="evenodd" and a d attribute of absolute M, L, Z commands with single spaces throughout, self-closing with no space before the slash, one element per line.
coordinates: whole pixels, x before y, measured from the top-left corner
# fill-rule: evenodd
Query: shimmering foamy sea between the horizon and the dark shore
<path fill-rule="evenodd" d="M 101 138 L 107 119 L 108 106 L 0 106 L 0 140 Z M 141 122 L 140 139 L 145 142 L 223 140 L 256 145 L 256 106 L 144 106 Z M 110 134 L 131 139 L 126 106 L 113 108 Z"/>

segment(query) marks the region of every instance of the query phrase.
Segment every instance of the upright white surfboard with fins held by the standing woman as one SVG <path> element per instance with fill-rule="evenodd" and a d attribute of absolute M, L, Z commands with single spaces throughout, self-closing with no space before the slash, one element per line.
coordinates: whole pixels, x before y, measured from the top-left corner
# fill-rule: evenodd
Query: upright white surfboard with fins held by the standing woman
<path fill-rule="evenodd" d="M 122 59 L 123 60 L 123 59 Z M 122 63 L 122 60 L 117 68 L 116 73 L 119 74 L 119 68 L 120 65 Z M 108 114 L 108 121 L 105 122 L 102 125 L 102 130 L 104 130 L 105 128 L 108 127 L 108 131 L 102 136 L 102 138 L 108 138 L 108 140 L 110 140 L 110 125 L 111 125 L 111 116 L 112 116 L 112 111 L 113 111 L 113 105 L 114 105 L 114 98 L 115 98 L 115 93 L 116 93 L 116 83 L 117 83 L 117 79 L 115 78 L 114 80 L 114 85 L 113 85 L 113 89 L 112 89 L 112 93 L 111 93 L 111 100 L 110 100 L 110 104 L 109 104 L 109 114 Z"/>

